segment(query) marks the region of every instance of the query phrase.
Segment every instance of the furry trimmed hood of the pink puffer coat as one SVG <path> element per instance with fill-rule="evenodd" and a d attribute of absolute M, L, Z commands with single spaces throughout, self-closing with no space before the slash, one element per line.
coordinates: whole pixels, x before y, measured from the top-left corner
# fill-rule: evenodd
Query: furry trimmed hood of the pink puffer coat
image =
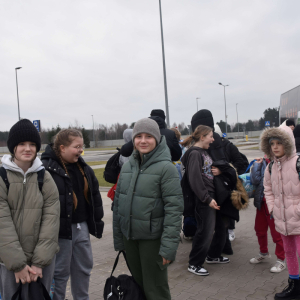
<path fill-rule="evenodd" d="M 267 128 L 261 134 L 260 149 L 268 158 L 273 159 L 274 154 L 269 143 L 270 138 L 278 138 L 282 141 L 286 157 L 290 158 L 296 155 L 295 139 L 290 127 L 282 124 L 277 128 Z"/>

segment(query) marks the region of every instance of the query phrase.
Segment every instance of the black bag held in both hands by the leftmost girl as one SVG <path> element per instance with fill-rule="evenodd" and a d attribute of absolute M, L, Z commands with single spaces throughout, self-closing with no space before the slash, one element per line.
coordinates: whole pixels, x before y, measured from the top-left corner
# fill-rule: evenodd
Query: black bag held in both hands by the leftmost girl
<path fill-rule="evenodd" d="M 20 282 L 18 289 L 12 296 L 11 300 L 22 300 L 22 286 L 23 284 Z M 41 282 L 40 277 L 38 277 L 36 282 L 29 283 L 28 289 L 30 300 L 51 300 L 50 295 Z"/>

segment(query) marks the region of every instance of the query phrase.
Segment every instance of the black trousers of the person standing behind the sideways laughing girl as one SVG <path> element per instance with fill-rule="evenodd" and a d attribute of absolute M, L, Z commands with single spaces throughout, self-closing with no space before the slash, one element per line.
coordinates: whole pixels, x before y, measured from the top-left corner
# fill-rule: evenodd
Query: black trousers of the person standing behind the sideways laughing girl
<path fill-rule="evenodd" d="M 209 257 L 218 258 L 221 256 L 228 235 L 228 226 L 229 217 L 224 216 L 220 211 L 217 211 L 215 233 L 208 251 Z"/>

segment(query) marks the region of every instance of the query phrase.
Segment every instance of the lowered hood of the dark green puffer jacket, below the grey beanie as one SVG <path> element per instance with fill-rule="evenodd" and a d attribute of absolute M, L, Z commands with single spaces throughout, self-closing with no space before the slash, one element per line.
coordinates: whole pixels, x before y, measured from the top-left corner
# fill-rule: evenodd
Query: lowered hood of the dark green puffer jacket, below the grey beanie
<path fill-rule="evenodd" d="M 134 150 L 130 157 L 130 161 L 133 162 L 132 160 L 140 159 L 139 156 L 139 152 L 137 150 Z M 164 135 L 161 136 L 160 143 L 155 147 L 154 150 L 152 150 L 150 153 L 143 155 L 142 165 L 143 168 L 147 168 L 151 164 L 161 161 L 172 161 L 170 149 L 167 145 L 166 138 Z"/>

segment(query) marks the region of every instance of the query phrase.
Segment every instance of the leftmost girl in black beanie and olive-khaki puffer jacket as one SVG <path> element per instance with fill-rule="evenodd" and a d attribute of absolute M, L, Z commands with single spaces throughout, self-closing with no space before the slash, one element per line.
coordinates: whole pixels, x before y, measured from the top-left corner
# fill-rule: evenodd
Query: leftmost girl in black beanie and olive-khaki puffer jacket
<path fill-rule="evenodd" d="M 28 283 L 38 277 L 50 291 L 59 250 L 58 190 L 48 172 L 40 190 L 41 139 L 29 120 L 11 128 L 7 145 L 11 155 L 3 156 L 1 172 L 9 186 L 0 178 L 0 292 L 11 299 L 21 282 L 22 299 L 32 300 Z"/>

